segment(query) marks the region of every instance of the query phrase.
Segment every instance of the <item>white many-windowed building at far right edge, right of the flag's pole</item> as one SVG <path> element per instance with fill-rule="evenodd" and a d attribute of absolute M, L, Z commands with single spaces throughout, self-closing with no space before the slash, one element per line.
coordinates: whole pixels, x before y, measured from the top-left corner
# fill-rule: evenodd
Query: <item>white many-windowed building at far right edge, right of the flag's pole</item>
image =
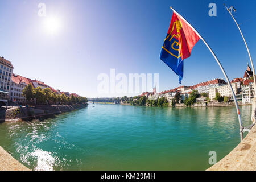
<path fill-rule="evenodd" d="M 254 81 L 246 79 L 242 85 L 242 102 L 243 104 L 251 103 L 254 97 Z"/>

